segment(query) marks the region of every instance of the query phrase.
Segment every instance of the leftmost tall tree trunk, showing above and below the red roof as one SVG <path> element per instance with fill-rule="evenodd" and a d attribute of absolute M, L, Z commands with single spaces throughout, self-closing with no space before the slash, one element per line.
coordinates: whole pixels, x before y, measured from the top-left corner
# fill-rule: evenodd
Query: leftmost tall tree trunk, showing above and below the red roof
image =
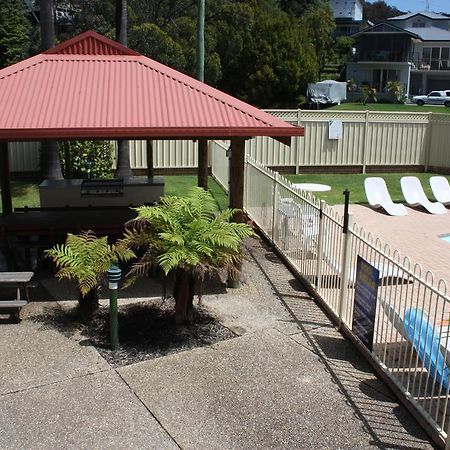
<path fill-rule="evenodd" d="M 41 50 L 55 45 L 55 25 L 53 0 L 40 0 Z M 41 143 L 41 176 L 47 180 L 62 180 L 63 174 L 59 161 L 59 147 L 55 141 Z"/>

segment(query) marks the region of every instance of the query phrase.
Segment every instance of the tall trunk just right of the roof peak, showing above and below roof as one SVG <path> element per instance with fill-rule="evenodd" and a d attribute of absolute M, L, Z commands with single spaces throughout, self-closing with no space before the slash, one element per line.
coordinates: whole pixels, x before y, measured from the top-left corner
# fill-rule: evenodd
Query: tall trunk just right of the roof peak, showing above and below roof
<path fill-rule="evenodd" d="M 116 41 L 128 45 L 128 11 L 127 0 L 116 0 Z M 130 141 L 117 141 L 117 178 L 131 178 Z"/>

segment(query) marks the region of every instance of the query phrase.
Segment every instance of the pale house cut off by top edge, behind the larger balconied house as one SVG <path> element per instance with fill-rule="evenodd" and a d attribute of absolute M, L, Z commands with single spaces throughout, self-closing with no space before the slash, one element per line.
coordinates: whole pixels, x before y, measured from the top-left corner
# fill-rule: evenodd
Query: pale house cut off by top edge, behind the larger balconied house
<path fill-rule="evenodd" d="M 350 36 L 370 24 L 363 20 L 362 0 L 330 0 L 330 7 L 336 22 L 333 37 Z"/>

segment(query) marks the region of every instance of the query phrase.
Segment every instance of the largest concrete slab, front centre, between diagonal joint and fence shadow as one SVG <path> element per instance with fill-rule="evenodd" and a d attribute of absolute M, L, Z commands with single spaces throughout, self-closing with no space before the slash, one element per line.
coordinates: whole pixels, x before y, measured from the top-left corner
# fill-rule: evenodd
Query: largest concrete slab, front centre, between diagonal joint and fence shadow
<path fill-rule="evenodd" d="M 119 373 L 183 448 L 362 448 L 373 440 L 318 356 L 273 329 Z"/>

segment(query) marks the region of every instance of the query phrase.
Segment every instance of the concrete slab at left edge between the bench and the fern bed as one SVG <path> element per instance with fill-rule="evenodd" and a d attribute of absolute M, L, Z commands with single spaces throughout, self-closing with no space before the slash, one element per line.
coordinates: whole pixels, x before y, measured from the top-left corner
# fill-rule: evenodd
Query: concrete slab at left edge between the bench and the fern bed
<path fill-rule="evenodd" d="M 80 345 L 45 322 L 33 321 L 55 307 L 52 303 L 31 303 L 24 308 L 21 323 L 1 324 L 0 394 L 110 370 L 93 347 Z"/>

